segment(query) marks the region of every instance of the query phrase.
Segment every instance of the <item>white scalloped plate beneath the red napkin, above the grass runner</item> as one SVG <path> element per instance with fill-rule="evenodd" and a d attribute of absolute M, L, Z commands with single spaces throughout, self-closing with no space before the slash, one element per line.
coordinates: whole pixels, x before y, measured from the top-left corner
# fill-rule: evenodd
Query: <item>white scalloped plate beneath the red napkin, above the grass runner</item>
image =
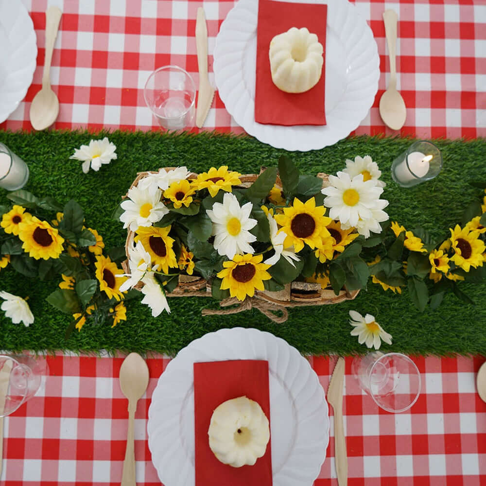
<path fill-rule="evenodd" d="M 327 125 L 283 126 L 255 121 L 258 0 L 240 0 L 228 13 L 216 37 L 213 70 L 226 110 L 248 134 L 276 148 L 305 152 L 344 139 L 364 119 L 378 90 L 380 57 L 366 20 L 347 0 L 301 3 L 328 5 Z"/>

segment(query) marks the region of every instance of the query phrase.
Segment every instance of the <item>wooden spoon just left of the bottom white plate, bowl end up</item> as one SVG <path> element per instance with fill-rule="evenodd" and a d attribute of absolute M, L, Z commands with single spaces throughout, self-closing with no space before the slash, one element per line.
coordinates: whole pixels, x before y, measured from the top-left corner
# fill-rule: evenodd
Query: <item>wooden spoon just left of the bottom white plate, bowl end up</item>
<path fill-rule="evenodd" d="M 128 431 L 126 437 L 125 460 L 121 486 L 135 486 L 135 449 L 134 426 L 137 402 L 145 393 L 149 384 L 149 369 L 143 358 L 137 353 L 130 353 L 121 364 L 120 387 L 128 399 Z"/>

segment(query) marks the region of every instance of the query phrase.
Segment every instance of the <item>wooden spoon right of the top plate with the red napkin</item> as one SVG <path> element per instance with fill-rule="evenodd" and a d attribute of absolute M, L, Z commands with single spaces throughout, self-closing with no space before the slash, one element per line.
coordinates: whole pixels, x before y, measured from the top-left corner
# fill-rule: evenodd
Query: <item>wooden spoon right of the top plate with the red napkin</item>
<path fill-rule="evenodd" d="M 388 54 L 390 56 L 390 80 L 388 82 L 388 89 L 380 98 L 380 116 L 383 122 L 392 130 L 399 130 L 405 123 L 407 117 L 405 102 L 397 91 L 397 67 L 395 64 L 397 20 L 398 16 L 394 10 L 385 10 L 383 12 Z"/>

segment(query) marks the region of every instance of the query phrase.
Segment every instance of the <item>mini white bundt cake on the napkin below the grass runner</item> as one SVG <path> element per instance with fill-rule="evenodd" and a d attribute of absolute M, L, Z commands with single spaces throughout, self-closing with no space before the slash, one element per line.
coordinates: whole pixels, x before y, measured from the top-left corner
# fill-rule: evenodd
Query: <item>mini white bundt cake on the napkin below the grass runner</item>
<path fill-rule="evenodd" d="M 270 439 L 268 418 L 260 405 L 246 397 L 221 403 L 209 424 L 209 447 L 224 464 L 253 466 L 265 454 Z"/>

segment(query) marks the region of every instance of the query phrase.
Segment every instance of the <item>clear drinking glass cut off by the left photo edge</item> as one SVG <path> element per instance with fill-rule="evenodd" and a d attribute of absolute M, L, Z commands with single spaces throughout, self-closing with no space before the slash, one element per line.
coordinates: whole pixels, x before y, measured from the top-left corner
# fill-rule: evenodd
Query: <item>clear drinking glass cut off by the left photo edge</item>
<path fill-rule="evenodd" d="M 15 412 L 35 395 L 47 369 L 43 357 L 0 355 L 0 417 Z"/>

